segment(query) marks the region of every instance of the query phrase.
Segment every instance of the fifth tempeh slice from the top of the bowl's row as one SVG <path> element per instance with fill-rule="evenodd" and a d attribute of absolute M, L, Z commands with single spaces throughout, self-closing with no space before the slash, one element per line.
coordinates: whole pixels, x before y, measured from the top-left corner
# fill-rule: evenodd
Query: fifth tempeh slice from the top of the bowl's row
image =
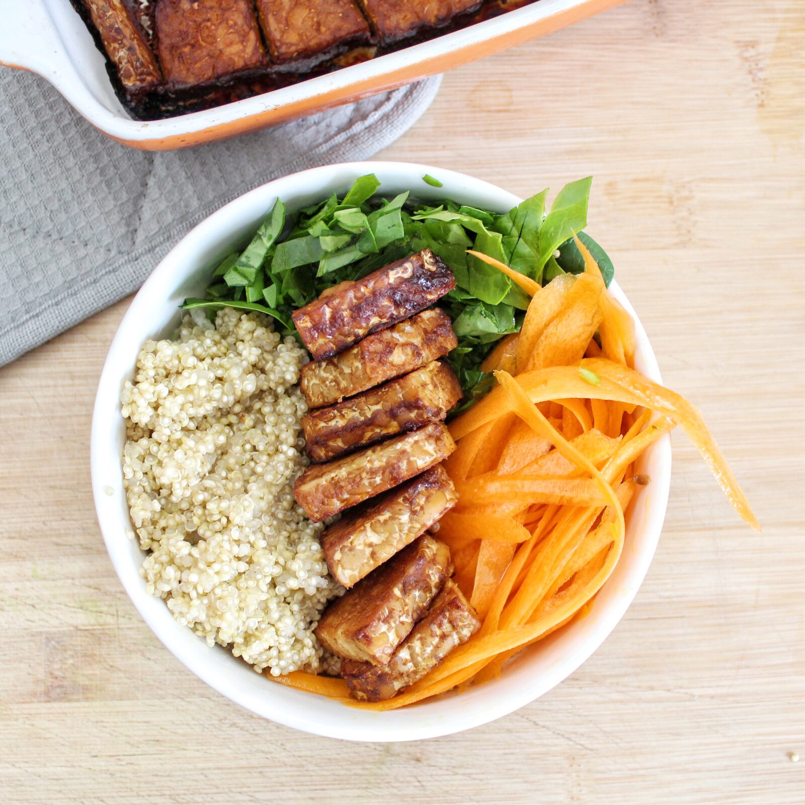
<path fill-rule="evenodd" d="M 352 587 L 412 543 L 457 500 L 448 473 L 434 467 L 376 502 L 348 512 L 321 540 L 330 574 Z"/>

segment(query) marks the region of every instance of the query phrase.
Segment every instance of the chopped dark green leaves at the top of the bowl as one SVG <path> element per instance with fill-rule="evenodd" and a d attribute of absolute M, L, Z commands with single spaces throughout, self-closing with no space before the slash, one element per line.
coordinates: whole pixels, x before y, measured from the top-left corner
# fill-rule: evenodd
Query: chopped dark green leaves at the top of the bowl
<path fill-rule="evenodd" d="M 432 176 L 423 176 L 423 181 L 441 187 Z M 456 276 L 456 287 L 439 305 L 451 317 L 458 338 L 448 361 L 464 390 L 456 409 L 461 410 L 493 386 L 493 376 L 481 371 L 481 363 L 496 341 L 518 332 L 530 302 L 516 283 L 467 254 L 468 249 L 544 284 L 565 272 L 584 270 L 572 239 L 578 233 L 606 283 L 612 279 L 609 257 L 582 232 L 589 179 L 568 184 L 549 211 L 543 190 L 506 213 L 448 198 L 425 204 L 412 200 L 408 192 L 379 198 L 378 188 L 377 176 L 361 176 L 343 197 L 333 193 L 289 216 L 278 200 L 246 248 L 229 254 L 213 270 L 206 298 L 186 299 L 182 307 L 262 312 L 278 321 L 283 335 L 298 337 L 291 313 L 322 291 L 431 249 Z"/>

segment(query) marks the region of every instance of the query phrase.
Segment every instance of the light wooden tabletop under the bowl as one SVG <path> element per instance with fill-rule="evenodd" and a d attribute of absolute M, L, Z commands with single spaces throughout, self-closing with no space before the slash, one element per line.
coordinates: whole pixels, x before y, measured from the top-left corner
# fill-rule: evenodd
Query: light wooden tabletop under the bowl
<path fill-rule="evenodd" d="M 107 559 L 89 421 L 124 301 L 0 371 L 2 802 L 805 802 L 803 37 L 802 0 L 634 0 L 445 76 L 381 155 L 522 195 L 595 175 L 590 230 L 762 535 L 675 435 L 654 564 L 555 690 L 427 743 L 273 725 L 180 666 Z"/>

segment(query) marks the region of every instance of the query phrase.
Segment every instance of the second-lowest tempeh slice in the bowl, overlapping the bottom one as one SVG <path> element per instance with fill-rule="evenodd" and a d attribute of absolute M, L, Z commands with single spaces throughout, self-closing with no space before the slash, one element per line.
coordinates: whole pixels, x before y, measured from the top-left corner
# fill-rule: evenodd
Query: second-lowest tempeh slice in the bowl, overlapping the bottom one
<path fill-rule="evenodd" d="M 447 545 L 422 535 L 333 601 L 316 626 L 316 637 L 340 657 L 388 663 L 451 569 Z"/>

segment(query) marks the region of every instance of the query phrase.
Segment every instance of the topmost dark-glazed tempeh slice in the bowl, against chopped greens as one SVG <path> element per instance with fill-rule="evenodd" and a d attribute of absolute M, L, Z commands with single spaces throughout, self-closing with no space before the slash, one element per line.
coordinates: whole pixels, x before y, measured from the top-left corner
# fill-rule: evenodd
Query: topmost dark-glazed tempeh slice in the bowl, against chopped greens
<path fill-rule="evenodd" d="M 292 318 L 316 361 L 429 307 L 456 287 L 430 249 L 390 263 L 340 291 L 306 304 Z"/>

